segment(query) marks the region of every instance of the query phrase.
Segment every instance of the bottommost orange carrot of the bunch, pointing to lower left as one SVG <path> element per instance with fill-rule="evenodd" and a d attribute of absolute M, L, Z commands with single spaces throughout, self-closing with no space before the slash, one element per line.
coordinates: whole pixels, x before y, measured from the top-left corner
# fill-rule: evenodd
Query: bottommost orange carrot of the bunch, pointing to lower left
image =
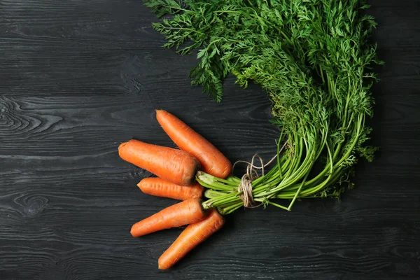
<path fill-rule="evenodd" d="M 168 269 L 181 260 L 189 251 L 222 228 L 225 219 L 214 208 L 202 221 L 188 225 L 181 235 L 159 258 L 159 269 Z"/>

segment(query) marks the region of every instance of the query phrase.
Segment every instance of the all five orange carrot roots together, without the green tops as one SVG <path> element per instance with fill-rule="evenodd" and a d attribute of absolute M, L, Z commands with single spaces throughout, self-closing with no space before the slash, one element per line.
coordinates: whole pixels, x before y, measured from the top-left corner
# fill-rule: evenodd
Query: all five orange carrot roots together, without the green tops
<path fill-rule="evenodd" d="M 135 223 L 130 231 L 133 237 L 141 237 L 188 225 L 158 260 L 160 269 L 168 269 L 225 222 L 216 209 L 203 204 L 204 188 L 195 181 L 197 172 L 225 179 L 232 173 L 232 164 L 207 139 L 171 113 L 156 110 L 156 118 L 180 149 L 133 139 L 120 144 L 118 152 L 123 160 L 157 176 L 140 181 L 137 186 L 144 193 L 183 200 Z"/>

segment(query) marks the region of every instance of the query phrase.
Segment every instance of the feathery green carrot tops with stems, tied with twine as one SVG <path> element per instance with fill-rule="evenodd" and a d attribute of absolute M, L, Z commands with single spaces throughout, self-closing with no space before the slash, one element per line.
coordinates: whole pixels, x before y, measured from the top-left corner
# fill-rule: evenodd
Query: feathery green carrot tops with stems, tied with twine
<path fill-rule="evenodd" d="M 372 70 L 377 46 L 374 19 L 361 0 L 144 0 L 182 55 L 197 50 L 194 85 L 221 102 L 232 73 L 243 87 L 265 89 L 273 122 L 281 127 L 276 165 L 253 181 L 253 198 L 290 210 L 297 198 L 339 197 L 358 158 L 373 159 Z M 286 142 L 286 148 L 281 149 Z M 321 168 L 319 168 L 321 167 Z M 239 179 L 201 173 L 204 204 L 230 213 L 243 206 Z M 283 206 L 275 199 L 289 200 Z"/>

